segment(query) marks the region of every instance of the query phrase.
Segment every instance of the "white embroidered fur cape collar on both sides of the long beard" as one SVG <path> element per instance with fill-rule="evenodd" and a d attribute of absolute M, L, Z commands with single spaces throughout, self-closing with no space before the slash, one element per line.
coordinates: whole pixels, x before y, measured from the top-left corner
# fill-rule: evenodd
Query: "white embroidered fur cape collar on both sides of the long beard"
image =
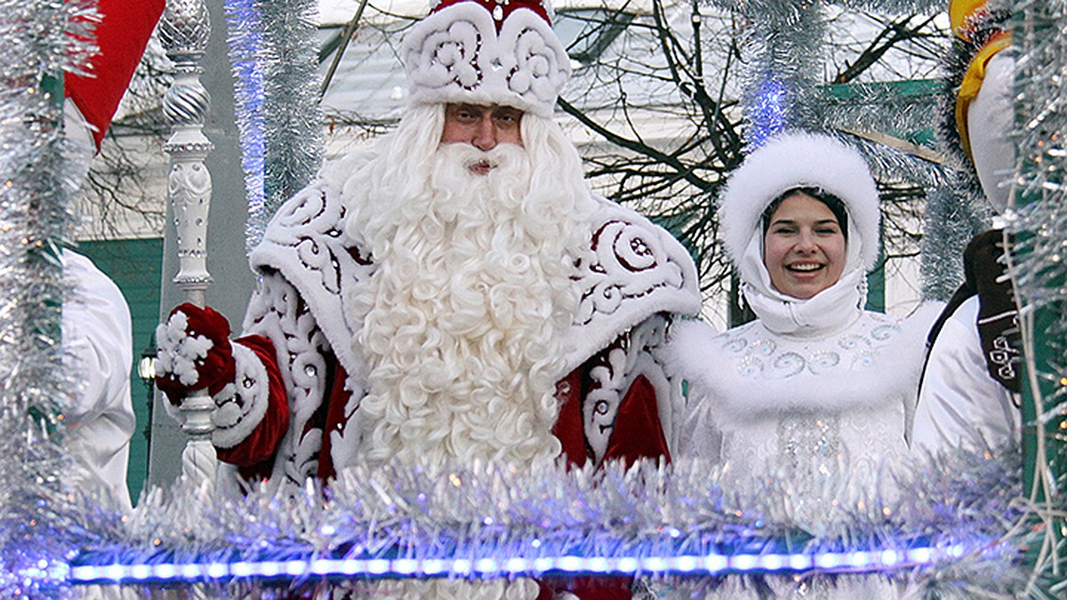
<path fill-rule="evenodd" d="M 375 265 L 340 230 L 340 184 L 365 160 L 355 156 L 324 168 L 318 183 L 278 209 L 251 257 L 255 271 L 281 272 L 300 291 L 337 359 L 361 385 L 363 364 L 351 348 L 357 327 L 344 306 Z M 593 198 L 591 244 L 576 265 L 579 305 L 564 334 L 564 374 L 657 313 L 700 311 L 697 268 L 682 244 L 637 212 Z"/>

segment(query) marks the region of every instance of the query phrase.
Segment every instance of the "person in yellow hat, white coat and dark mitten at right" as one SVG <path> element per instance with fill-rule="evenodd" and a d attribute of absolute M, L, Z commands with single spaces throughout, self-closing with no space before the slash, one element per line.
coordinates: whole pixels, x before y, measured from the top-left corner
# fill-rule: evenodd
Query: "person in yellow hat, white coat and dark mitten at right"
<path fill-rule="evenodd" d="M 942 136 L 962 169 L 1002 214 L 1009 203 L 1015 147 L 1015 54 L 1003 11 L 982 0 L 953 0 L 956 34 L 949 68 L 956 85 L 944 108 Z M 992 230 L 964 253 L 966 281 L 949 301 L 928 340 L 914 425 L 917 456 L 953 448 L 978 452 L 1017 444 L 1021 431 L 1018 311 L 1003 254 L 1007 239 Z"/>

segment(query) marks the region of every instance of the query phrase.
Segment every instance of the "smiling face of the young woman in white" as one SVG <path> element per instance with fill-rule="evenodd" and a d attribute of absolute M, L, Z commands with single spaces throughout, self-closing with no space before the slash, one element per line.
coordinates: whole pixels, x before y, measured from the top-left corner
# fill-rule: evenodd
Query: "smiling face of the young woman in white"
<path fill-rule="evenodd" d="M 763 238 L 763 264 L 775 289 L 801 300 L 838 283 L 845 236 L 830 207 L 803 192 L 783 200 Z"/>

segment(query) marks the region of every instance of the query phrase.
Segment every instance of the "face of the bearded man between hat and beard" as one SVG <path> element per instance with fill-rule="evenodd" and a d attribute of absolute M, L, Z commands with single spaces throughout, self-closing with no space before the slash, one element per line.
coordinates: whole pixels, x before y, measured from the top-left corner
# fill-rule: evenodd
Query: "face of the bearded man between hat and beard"
<path fill-rule="evenodd" d="M 442 144 L 466 143 L 482 152 L 489 152 L 497 144 L 523 145 L 519 127 L 523 111 L 501 105 L 445 105 L 445 129 L 441 133 Z M 484 175 L 491 167 L 487 167 Z"/>

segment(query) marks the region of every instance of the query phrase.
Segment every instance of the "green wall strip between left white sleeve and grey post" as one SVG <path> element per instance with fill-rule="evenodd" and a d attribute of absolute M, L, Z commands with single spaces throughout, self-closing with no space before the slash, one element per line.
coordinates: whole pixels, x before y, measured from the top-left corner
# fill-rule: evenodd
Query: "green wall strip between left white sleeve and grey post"
<path fill-rule="evenodd" d="M 150 390 L 137 375 L 137 361 L 145 348 L 155 349 L 153 333 L 159 321 L 159 282 L 163 255 L 162 238 L 83 241 L 76 250 L 89 256 L 123 290 L 133 318 L 133 361 L 130 365 L 130 395 L 137 413 L 137 431 L 130 441 L 130 463 L 126 481 L 137 502 L 148 468 L 148 406 Z"/>

